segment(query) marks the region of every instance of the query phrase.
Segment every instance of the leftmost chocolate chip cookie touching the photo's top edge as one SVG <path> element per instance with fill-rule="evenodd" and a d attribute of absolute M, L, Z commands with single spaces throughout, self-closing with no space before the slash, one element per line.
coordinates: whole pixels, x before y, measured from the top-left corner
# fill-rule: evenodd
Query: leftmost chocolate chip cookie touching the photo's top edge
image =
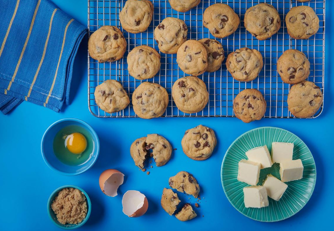
<path fill-rule="evenodd" d="M 119 21 L 124 30 L 137 34 L 147 30 L 153 14 L 154 7 L 151 1 L 127 0 L 119 13 Z"/>

